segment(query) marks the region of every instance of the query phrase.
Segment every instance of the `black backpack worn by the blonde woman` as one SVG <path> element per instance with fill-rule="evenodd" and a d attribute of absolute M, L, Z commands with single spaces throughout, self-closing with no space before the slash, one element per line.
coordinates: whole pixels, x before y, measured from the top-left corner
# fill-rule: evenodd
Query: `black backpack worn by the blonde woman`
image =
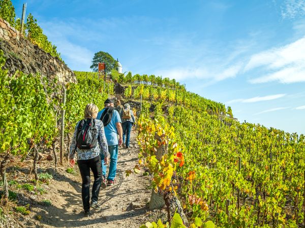
<path fill-rule="evenodd" d="M 76 134 L 76 145 L 79 149 L 92 149 L 98 145 L 98 129 L 94 118 L 86 118 L 79 122 Z"/>

